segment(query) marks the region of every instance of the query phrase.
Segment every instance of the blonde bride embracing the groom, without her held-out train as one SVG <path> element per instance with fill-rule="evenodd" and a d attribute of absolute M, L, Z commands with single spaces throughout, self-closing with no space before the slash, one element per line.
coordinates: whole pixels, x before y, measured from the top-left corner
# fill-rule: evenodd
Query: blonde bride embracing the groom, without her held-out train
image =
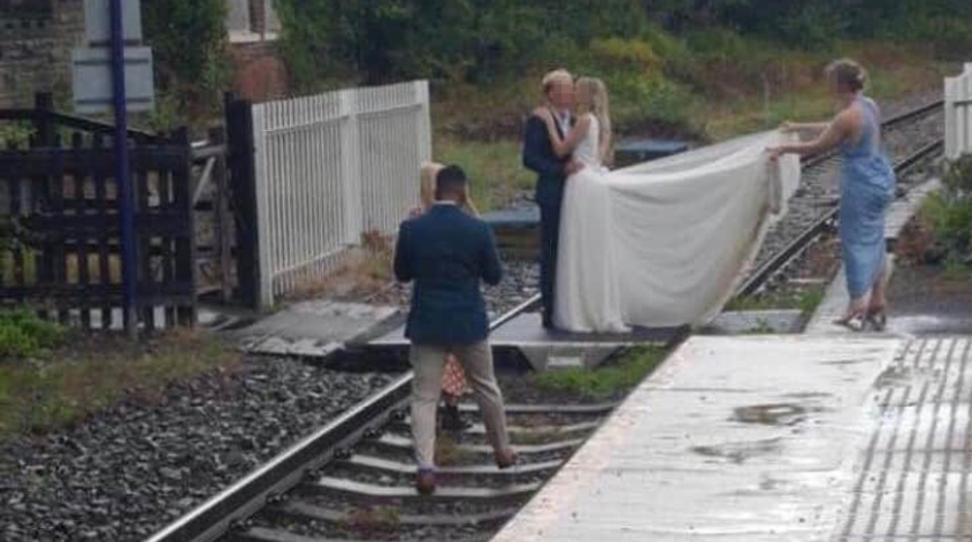
<path fill-rule="evenodd" d="M 551 112 L 536 114 L 559 156 L 573 154 L 585 167 L 566 181 L 561 208 L 560 251 L 553 323 L 561 330 L 625 333 L 617 273 L 611 250 L 611 199 L 604 162 L 611 153 L 611 116 L 603 81 L 583 77 L 576 83 L 577 122 L 564 138 Z"/>

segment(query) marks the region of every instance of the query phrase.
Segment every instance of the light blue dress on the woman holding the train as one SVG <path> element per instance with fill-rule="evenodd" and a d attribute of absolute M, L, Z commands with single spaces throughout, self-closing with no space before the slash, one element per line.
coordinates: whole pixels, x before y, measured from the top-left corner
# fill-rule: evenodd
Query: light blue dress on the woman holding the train
<path fill-rule="evenodd" d="M 841 245 L 852 299 L 867 295 L 884 267 L 884 215 L 894 199 L 895 173 L 881 147 L 881 114 L 860 96 L 864 129 L 856 144 L 841 146 Z"/>

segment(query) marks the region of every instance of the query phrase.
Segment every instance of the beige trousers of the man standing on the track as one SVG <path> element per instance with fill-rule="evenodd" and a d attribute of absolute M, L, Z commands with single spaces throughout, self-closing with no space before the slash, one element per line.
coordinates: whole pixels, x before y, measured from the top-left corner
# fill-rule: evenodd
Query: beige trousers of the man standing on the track
<path fill-rule="evenodd" d="M 420 468 L 435 468 L 435 414 L 443 390 L 443 367 L 449 352 L 456 354 L 465 370 L 493 449 L 503 451 L 510 446 L 503 396 L 493 372 L 489 341 L 466 346 L 412 345 L 409 354 L 415 373 L 412 380 L 412 438 Z"/>

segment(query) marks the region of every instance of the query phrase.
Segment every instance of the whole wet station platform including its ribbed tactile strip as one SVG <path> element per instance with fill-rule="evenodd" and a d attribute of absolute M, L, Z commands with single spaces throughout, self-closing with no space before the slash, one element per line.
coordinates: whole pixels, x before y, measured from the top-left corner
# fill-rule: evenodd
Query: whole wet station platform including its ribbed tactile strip
<path fill-rule="evenodd" d="M 972 540 L 972 337 L 695 336 L 494 542 Z"/>

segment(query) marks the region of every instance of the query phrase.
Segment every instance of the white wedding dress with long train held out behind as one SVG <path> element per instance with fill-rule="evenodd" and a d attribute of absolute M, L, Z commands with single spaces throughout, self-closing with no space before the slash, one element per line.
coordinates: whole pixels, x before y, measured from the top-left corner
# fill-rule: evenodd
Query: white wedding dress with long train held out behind
<path fill-rule="evenodd" d="M 561 212 L 554 325 L 623 333 L 704 325 L 729 300 L 772 216 L 800 183 L 800 159 L 769 160 L 789 141 L 758 133 L 606 171 L 591 127 Z"/>

